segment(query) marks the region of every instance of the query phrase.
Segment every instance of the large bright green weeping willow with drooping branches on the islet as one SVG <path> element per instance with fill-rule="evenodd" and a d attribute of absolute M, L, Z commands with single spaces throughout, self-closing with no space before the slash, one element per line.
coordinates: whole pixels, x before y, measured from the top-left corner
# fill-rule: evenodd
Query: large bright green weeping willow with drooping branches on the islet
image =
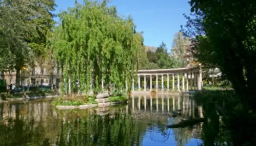
<path fill-rule="evenodd" d="M 61 25 L 54 32 L 53 48 L 61 68 L 62 89 L 71 94 L 76 80 L 79 90 L 85 92 L 91 81 L 94 91 L 101 91 L 102 80 L 106 87 L 114 85 L 118 91 L 125 89 L 127 80 L 131 89 L 143 45 L 133 19 L 118 17 L 116 7 L 108 7 L 106 0 L 75 2 L 74 8 L 59 17 Z"/>

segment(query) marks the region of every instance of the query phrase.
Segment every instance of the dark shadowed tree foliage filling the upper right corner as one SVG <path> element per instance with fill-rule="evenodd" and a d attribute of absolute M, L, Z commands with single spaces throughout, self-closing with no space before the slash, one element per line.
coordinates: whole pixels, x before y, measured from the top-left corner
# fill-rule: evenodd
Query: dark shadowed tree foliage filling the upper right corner
<path fill-rule="evenodd" d="M 198 61 L 231 81 L 247 110 L 256 109 L 256 1 L 191 0 L 186 36 Z"/>

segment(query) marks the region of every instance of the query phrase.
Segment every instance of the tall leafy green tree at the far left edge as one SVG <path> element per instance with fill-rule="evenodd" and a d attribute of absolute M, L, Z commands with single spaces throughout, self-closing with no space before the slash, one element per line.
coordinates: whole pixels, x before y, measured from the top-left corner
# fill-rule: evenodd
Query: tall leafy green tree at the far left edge
<path fill-rule="evenodd" d="M 43 40 L 43 27 L 48 25 L 53 0 L 2 0 L 0 1 L 0 64 L 1 69 L 16 69 L 16 83 L 20 83 L 20 70 L 33 63 L 34 51 L 29 40 Z M 35 21 L 35 19 L 41 22 Z M 44 19 L 43 19 L 44 18 Z"/>

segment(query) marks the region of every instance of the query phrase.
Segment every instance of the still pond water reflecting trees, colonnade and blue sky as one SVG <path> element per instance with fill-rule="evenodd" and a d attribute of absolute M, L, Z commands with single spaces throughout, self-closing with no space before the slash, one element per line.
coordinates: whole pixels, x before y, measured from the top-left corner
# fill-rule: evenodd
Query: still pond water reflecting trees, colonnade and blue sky
<path fill-rule="evenodd" d="M 182 109 L 172 117 L 172 111 Z M 127 105 L 56 110 L 51 101 L 0 104 L 0 146 L 198 146 L 198 124 L 166 128 L 202 116 L 189 95 L 131 97 Z"/>

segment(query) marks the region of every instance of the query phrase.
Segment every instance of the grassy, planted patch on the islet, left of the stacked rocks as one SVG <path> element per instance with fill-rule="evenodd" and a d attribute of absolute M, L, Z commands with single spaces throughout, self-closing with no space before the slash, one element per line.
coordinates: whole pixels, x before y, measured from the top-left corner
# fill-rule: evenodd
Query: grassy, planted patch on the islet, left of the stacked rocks
<path fill-rule="evenodd" d="M 86 104 L 98 104 L 97 101 L 94 100 L 94 97 L 88 96 L 67 96 L 67 97 L 59 97 L 56 101 L 52 103 L 55 106 L 80 106 Z"/>

